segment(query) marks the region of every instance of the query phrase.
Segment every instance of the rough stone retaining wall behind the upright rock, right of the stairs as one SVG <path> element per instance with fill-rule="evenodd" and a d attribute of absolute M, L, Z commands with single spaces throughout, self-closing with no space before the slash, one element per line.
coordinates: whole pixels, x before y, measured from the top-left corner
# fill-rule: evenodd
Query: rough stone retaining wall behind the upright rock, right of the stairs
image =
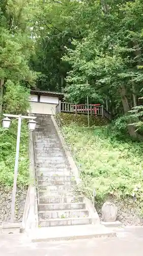
<path fill-rule="evenodd" d="M 122 222 L 125 226 L 143 226 L 143 218 L 139 216 L 139 208 L 135 201 L 132 199 L 121 202 L 115 200 L 110 201 L 118 207 L 118 221 Z M 102 221 L 101 206 L 97 207 L 97 209 L 100 220 Z"/>

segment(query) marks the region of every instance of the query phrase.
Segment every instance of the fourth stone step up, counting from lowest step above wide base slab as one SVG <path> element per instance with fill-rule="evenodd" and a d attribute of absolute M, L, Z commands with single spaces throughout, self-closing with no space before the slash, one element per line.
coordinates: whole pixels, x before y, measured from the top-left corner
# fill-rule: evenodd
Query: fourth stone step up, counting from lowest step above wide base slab
<path fill-rule="evenodd" d="M 64 203 L 83 203 L 82 196 L 72 197 L 39 197 L 40 204 L 64 204 Z"/>

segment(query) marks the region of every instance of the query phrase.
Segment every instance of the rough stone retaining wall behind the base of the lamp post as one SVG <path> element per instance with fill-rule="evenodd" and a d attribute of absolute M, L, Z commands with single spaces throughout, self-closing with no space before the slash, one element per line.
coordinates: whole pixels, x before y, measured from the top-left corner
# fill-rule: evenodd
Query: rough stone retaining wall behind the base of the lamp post
<path fill-rule="evenodd" d="M 22 221 L 26 193 L 27 193 L 27 187 L 17 189 L 16 206 L 15 206 L 16 222 Z M 0 223 L 10 221 L 11 201 L 12 201 L 12 189 L 10 190 L 5 187 L 0 187 Z"/>

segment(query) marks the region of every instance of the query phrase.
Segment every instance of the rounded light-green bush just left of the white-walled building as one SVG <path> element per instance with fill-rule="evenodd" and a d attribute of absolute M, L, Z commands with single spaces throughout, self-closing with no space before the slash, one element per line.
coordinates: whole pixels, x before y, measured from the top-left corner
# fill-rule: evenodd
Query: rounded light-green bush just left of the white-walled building
<path fill-rule="evenodd" d="M 6 93 L 3 98 L 4 112 L 12 114 L 25 114 L 30 109 L 28 97 L 30 90 L 20 86 L 19 83 L 8 80 L 6 82 Z"/>

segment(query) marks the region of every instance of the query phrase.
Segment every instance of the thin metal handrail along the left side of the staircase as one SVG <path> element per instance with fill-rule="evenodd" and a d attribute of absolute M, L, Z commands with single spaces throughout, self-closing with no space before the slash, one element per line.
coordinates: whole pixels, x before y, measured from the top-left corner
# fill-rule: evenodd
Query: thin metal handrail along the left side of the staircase
<path fill-rule="evenodd" d="M 37 201 L 39 205 L 39 188 L 38 188 L 38 174 L 37 174 L 37 161 L 36 161 L 36 150 L 35 150 L 35 133 L 33 132 L 33 155 L 34 155 L 34 183 L 36 187 Z"/>

